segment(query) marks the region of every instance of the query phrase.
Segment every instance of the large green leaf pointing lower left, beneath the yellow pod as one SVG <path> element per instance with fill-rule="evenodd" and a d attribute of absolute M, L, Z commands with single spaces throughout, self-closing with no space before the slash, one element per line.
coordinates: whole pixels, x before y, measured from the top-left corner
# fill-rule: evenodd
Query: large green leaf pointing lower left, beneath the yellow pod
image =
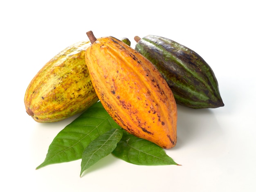
<path fill-rule="evenodd" d="M 101 102 L 95 103 L 56 135 L 49 145 L 45 161 L 36 169 L 81 159 L 85 147 L 112 128 L 120 126 L 106 112 Z"/>

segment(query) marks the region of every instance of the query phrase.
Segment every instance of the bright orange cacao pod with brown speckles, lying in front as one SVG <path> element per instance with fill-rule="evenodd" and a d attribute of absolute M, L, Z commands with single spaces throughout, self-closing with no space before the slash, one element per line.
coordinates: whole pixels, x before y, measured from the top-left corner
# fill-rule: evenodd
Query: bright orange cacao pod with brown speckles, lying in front
<path fill-rule="evenodd" d="M 111 36 L 93 42 L 85 61 L 103 107 L 122 128 L 160 147 L 175 146 L 177 106 L 152 63 Z"/>

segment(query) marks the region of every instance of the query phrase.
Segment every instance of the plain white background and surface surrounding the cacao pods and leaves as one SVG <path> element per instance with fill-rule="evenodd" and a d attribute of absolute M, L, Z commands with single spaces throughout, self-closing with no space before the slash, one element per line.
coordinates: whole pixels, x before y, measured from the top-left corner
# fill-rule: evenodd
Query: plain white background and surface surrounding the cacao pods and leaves
<path fill-rule="evenodd" d="M 146 3 L 145 3 L 146 2 Z M 253 192 L 256 190 L 255 6 L 249 0 L 28 1 L 0 3 L 0 191 Z M 168 2 L 168 4 L 166 4 Z M 178 106 L 182 166 L 138 166 L 110 155 L 82 178 L 81 161 L 43 162 L 69 118 L 36 123 L 25 90 L 41 67 L 92 30 L 96 37 L 158 35 L 196 51 L 213 69 L 225 107 Z"/>

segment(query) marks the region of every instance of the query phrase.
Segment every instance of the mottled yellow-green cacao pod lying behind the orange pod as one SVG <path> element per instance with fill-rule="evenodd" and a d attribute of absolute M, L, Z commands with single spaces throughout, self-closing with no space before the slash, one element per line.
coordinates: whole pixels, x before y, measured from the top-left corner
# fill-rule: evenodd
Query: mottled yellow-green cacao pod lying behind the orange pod
<path fill-rule="evenodd" d="M 31 80 L 24 101 L 35 121 L 61 121 L 99 100 L 85 64 L 85 50 L 90 45 L 90 41 L 82 41 L 67 47 Z"/>

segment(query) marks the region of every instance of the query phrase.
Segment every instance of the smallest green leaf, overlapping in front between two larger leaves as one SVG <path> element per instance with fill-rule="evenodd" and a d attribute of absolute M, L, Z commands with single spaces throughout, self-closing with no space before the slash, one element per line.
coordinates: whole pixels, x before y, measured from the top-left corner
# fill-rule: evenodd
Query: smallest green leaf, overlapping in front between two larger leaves
<path fill-rule="evenodd" d="M 111 129 L 93 140 L 83 151 L 80 176 L 90 166 L 109 155 L 117 147 L 122 135 L 122 129 Z"/>

